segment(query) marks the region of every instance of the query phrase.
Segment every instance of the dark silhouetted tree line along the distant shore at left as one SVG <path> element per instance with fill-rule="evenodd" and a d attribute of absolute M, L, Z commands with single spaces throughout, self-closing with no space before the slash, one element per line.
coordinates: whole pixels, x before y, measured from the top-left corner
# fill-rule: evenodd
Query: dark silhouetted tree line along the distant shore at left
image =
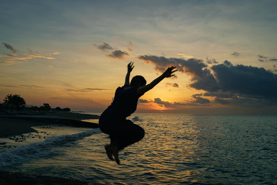
<path fill-rule="evenodd" d="M 4 103 L 2 104 L 2 109 L 10 109 L 11 107 L 15 107 L 15 109 L 18 110 L 32 110 L 32 111 L 50 111 L 52 108 L 48 103 L 43 103 L 42 106 L 32 106 L 27 105 L 24 100 L 24 98 L 20 97 L 20 94 L 8 94 L 3 99 Z M 69 112 L 71 111 L 70 108 L 63 108 L 60 107 L 55 108 L 56 111 L 65 111 Z M 13 109 L 12 109 L 13 110 Z"/>

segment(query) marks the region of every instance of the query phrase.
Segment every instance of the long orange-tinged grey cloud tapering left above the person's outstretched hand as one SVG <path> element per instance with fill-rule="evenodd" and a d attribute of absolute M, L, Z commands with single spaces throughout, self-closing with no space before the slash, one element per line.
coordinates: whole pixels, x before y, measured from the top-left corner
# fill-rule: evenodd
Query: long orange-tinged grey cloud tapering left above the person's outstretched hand
<path fill-rule="evenodd" d="M 211 71 L 207 69 L 207 65 L 204 64 L 203 60 L 191 58 L 165 58 L 164 56 L 155 55 L 140 55 L 138 59 L 144 60 L 145 63 L 154 64 L 154 69 L 163 73 L 169 66 L 176 66 L 179 72 L 185 73 L 191 76 L 192 83 L 190 87 L 195 89 L 205 89 L 207 91 L 217 91 L 216 79 L 211 74 Z"/>

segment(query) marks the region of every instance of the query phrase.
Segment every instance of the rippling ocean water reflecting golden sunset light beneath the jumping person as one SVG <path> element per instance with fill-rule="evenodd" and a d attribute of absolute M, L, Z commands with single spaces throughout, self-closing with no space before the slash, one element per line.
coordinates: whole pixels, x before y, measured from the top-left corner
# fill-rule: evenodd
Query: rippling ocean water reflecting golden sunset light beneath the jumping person
<path fill-rule="evenodd" d="M 17 147 L 0 153 L 0 169 L 101 184 L 277 184 L 277 116 L 128 118 L 145 137 L 120 151 L 120 166 L 99 129 L 44 126 L 20 144 L 10 139 Z"/>

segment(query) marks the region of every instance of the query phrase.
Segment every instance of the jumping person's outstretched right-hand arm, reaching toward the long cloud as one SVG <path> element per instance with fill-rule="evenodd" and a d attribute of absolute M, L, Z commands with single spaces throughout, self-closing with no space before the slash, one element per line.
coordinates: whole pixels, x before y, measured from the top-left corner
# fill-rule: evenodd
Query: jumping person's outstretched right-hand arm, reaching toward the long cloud
<path fill-rule="evenodd" d="M 155 80 L 153 80 L 150 84 L 147 84 L 145 86 L 142 86 L 142 87 L 139 87 L 137 89 L 137 94 L 144 94 L 145 92 L 149 91 L 150 89 L 152 89 L 153 87 L 155 87 L 160 81 L 162 81 L 164 78 L 168 78 L 168 77 L 171 77 L 171 76 L 175 76 L 175 74 L 172 74 L 174 73 L 175 71 L 172 71 L 173 69 L 175 69 L 176 67 L 170 67 L 170 68 L 167 68 L 166 71 L 161 75 L 159 76 L 158 78 L 156 78 Z"/>

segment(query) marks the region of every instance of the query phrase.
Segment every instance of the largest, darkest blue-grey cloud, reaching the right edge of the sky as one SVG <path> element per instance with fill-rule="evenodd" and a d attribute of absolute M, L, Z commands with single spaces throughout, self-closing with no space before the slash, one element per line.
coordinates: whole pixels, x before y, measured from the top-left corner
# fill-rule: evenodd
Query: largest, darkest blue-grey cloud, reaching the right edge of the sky
<path fill-rule="evenodd" d="M 277 74 L 264 68 L 225 64 L 211 67 L 222 92 L 276 98 Z M 205 90 L 205 89 L 203 89 Z"/>

